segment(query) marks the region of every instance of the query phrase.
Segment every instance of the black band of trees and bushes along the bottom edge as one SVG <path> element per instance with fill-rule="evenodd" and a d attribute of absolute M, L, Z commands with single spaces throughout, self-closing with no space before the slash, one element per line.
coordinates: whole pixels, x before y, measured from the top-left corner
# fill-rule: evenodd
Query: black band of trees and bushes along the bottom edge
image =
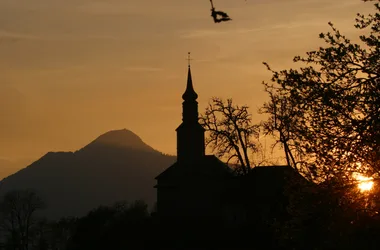
<path fill-rule="evenodd" d="M 1 203 L 1 249 L 377 249 L 380 217 L 371 213 L 374 197 L 350 193 L 357 197 L 353 202 L 331 187 L 296 189 L 284 190 L 282 211 L 278 202 L 276 211 L 270 204 L 251 204 L 249 214 L 231 221 L 168 220 L 143 201 L 47 221 L 40 216 L 45 204 L 34 192 L 14 191 Z"/>

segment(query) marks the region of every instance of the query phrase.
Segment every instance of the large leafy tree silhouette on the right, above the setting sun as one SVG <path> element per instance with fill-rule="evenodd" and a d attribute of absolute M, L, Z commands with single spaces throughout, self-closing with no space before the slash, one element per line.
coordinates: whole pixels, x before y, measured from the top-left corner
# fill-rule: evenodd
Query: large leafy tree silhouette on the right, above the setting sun
<path fill-rule="evenodd" d="M 358 14 L 360 44 L 332 23 L 321 33 L 326 47 L 296 56 L 300 69 L 272 70 L 264 83 L 270 101 L 262 112 L 267 134 L 277 138 L 289 165 L 314 181 L 337 173 L 380 171 L 380 1 L 375 13 Z"/>

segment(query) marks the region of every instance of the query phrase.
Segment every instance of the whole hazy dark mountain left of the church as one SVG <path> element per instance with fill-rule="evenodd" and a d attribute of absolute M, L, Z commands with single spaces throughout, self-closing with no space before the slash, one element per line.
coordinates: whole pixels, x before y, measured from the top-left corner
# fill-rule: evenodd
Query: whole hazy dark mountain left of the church
<path fill-rule="evenodd" d="M 75 152 L 49 152 L 3 179 L 0 193 L 33 189 L 47 203 L 51 219 L 82 216 L 99 205 L 116 201 L 156 199 L 154 177 L 174 163 L 145 144 L 133 132 L 107 132 Z"/>

